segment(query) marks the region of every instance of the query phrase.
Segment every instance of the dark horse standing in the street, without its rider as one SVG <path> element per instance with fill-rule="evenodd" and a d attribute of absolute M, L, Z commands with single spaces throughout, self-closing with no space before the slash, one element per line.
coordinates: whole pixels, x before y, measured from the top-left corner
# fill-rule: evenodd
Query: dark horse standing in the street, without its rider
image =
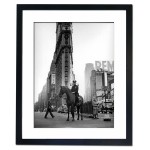
<path fill-rule="evenodd" d="M 79 120 L 79 110 L 81 112 L 81 120 L 83 120 L 83 116 L 82 116 L 83 97 L 79 95 L 78 96 L 78 102 L 75 102 L 75 95 L 71 92 L 71 90 L 66 86 L 61 86 L 59 97 L 62 97 L 62 95 L 64 93 L 67 95 L 67 99 L 66 99 L 67 108 L 68 108 L 67 121 L 69 121 L 70 107 L 71 107 L 71 114 L 72 114 L 72 118 L 73 118 L 72 121 L 74 121 L 74 107 L 75 106 L 77 107 L 77 114 L 78 114 L 77 120 Z"/>

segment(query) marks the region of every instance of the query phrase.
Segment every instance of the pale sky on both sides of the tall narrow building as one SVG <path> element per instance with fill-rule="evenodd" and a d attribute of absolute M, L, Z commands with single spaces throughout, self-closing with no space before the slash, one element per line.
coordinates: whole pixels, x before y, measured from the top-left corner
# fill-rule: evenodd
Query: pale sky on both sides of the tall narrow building
<path fill-rule="evenodd" d="M 73 23 L 73 71 L 84 97 L 86 63 L 114 60 L 113 23 Z M 46 84 L 56 46 L 56 23 L 34 24 L 35 101 Z"/>

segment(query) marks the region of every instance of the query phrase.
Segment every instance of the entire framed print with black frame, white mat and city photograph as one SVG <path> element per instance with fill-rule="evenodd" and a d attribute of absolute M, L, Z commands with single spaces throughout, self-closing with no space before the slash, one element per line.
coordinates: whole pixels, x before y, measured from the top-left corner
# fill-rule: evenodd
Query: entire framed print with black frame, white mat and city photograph
<path fill-rule="evenodd" d="M 132 5 L 17 5 L 16 144 L 132 145 Z"/>

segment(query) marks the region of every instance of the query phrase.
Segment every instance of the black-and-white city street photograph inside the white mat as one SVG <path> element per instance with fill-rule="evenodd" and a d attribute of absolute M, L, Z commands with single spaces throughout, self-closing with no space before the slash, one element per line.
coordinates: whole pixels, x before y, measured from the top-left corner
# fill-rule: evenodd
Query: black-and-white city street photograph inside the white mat
<path fill-rule="evenodd" d="M 114 22 L 34 22 L 34 128 L 114 128 Z"/>

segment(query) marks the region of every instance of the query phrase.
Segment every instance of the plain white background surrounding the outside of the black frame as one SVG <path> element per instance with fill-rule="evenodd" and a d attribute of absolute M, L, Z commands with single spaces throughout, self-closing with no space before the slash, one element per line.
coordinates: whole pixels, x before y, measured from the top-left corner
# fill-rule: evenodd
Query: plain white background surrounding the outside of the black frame
<path fill-rule="evenodd" d="M 60 149 L 58 146 L 16 146 L 15 145 L 15 83 L 16 83 L 16 3 L 62 3 L 62 0 L 5 0 L 0 4 L 0 149 L 3 150 L 48 150 Z M 148 150 L 149 121 L 149 84 L 150 84 L 150 9 L 149 1 L 133 0 L 64 0 L 64 3 L 132 3 L 133 8 L 133 146 L 122 149 Z M 143 108 L 143 110 L 142 110 Z M 141 111 L 142 110 L 142 111 Z M 72 149 L 99 149 L 99 147 L 72 147 Z M 100 147 L 104 150 L 117 150 L 120 147 Z M 70 146 L 63 147 L 70 150 Z"/>

